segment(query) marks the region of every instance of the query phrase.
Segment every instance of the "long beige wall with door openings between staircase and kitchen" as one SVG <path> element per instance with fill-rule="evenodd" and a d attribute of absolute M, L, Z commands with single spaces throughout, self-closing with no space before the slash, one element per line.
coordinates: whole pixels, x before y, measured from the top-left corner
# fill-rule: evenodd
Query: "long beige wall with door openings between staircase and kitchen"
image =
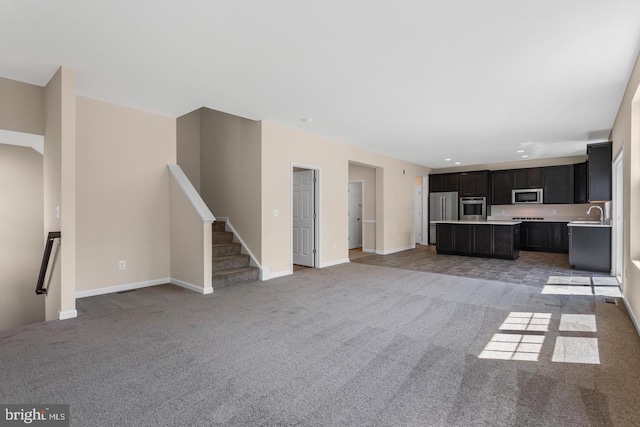
<path fill-rule="evenodd" d="M 350 161 L 376 167 L 378 250 L 413 245 L 414 176 L 428 174 L 428 168 L 262 122 L 262 259 L 268 275 L 287 274 L 292 267 L 292 164 L 320 170 L 320 266 L 348 260 Z"/>

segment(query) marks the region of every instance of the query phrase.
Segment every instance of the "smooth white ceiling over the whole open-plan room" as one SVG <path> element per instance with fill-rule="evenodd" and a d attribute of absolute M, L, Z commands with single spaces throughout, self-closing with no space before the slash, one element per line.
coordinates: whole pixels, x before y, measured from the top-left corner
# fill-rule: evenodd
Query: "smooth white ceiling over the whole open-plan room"
<path fill-rule="evenodd" d="M 638 0 L 0 0 L 0 76 L 65 65 L 82 96 L 436 168 L 531 160 L 606 139 L 639 18 Z"/>

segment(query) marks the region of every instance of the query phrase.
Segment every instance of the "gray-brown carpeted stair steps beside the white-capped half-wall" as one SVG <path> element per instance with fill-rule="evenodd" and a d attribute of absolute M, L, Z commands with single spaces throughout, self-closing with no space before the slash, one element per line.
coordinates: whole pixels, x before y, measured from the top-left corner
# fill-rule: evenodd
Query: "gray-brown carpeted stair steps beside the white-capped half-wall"
<path fill-rule="evenodd" d="M 213 223 L 212 263 L 214 289 L 234 283 L 255 282 L 260 271 L 249 265 L 249 255 L 241 253 L 240 243 L 233 241 L 233 233 L 226 231 L 225 222 Z"/>

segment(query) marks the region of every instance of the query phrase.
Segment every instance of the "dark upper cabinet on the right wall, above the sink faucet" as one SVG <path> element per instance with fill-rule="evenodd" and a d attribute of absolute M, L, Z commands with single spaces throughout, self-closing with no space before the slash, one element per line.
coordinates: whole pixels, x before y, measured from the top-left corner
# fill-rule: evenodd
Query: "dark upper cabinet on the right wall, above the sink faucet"
<path fill-rule="evenodd" d="M 611 200 L 611 142 L 587 145 L 588 202 Z"/>

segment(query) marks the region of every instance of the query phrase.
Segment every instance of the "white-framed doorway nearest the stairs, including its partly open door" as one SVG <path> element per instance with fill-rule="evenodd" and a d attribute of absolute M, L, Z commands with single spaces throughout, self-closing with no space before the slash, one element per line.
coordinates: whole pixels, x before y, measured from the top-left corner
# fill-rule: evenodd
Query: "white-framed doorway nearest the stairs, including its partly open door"
<path fill-rule="evenodd" d="M 291 168 L 291 265 L 295 272 L 318 266 L 319 169 Z"/>

